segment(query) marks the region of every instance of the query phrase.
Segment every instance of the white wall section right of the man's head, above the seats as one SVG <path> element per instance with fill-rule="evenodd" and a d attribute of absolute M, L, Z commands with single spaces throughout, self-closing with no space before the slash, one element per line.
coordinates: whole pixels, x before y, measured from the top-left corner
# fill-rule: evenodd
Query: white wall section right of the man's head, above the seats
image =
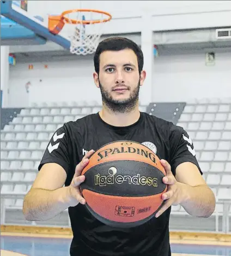
<path fill-rule="evenodd" d="M 215 66 L 205 65 L 205 54 L 160 56 L 155 59 L 155 101 L 231 96 L 231 51 L 217 53 Z"/>

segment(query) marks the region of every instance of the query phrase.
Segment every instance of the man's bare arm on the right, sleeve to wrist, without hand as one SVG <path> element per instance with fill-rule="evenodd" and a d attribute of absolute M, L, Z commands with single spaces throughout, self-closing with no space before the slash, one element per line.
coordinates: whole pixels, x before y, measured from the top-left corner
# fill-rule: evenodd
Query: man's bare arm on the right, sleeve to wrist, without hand
<path fill-rule="evenodd" d="M 215 210 L 216 199 L 205 183 L 196 165 L 184 162 L 176 168 L 176 180 L 181 184 L 180 205 L 196 217 L 210 217 Z"/>

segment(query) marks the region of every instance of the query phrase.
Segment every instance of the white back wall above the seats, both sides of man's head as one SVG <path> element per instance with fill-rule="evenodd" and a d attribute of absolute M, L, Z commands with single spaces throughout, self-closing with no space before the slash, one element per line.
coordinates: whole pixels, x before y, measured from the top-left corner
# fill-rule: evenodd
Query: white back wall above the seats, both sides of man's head
<path fill-rule="evenodd" d="M 47 69 L 44 64 L 48 64 Z M 160 56 L 155 59 L 154 73 L 147 75 L 153 75 L 153 101 L 173 102 L 230 96 L 230 70 L 231 52 L 217 53 L 215 66 L 205 66 L 205 55 L 200 53 Z M 32 102 L 101 102 L 93 72 L 93 60 L 89 58 L 34 63 L 32 70 L 28 69 L 28 63 L 18 63 L 10 69 L 9 104 L 11 107 L 26 107 Z M 25 89 L 27 82 L 32 84 L 28 94 Z M 145 96 L 141 89 L 141 103 Z"/>

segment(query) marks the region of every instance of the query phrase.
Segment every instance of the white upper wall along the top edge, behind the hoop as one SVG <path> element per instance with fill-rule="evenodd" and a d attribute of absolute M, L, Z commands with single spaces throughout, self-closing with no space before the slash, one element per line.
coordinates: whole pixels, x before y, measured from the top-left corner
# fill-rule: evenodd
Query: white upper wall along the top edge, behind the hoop
<path fill-rule="evenodd" d="M 231 16 L 231 1 L 66 0 L 54 4 L 53 1 L 45 0 L 28 3 L 28 13 L 43 16 L 45 20 L 47 14 L 60 15 L 64 10 L 77 8 L 111 13 L 112 20 L 104 25 L 104 34 L 141 32 L 144 25 L 153 31 L 230 26 Z M 143 14 L 152 16 L 150 24 L 144 24 Z M 66 37 L 71 31 L 72 27 L 65 25 L 60 34 Z"/>

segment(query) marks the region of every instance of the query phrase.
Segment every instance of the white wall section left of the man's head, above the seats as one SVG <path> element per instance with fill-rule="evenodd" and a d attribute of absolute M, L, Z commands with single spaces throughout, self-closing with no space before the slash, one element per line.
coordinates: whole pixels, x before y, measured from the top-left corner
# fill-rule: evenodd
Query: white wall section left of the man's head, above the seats
<path fill-rule="evenodd" d="M 18 63 L 10 69 L 10 106 L 29 106 L 33 102 L 101 101 L 100 91 L 94 85 L 93 61 L 59 61 Z M 45 68 L 44 65 L 48 65 Z M 27 94 L 25 84 L 31 82 Z M 90 91 L 89 91 L 90 90 Z"/>

